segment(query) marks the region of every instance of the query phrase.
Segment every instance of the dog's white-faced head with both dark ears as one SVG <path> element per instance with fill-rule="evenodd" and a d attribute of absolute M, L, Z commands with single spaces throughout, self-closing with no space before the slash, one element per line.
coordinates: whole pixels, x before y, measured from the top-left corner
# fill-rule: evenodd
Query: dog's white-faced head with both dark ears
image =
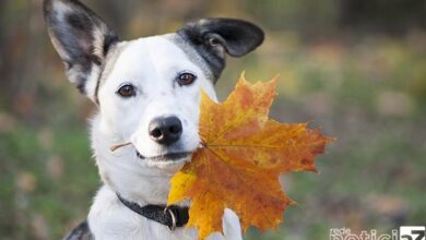
<path fill-rule="evenodd" d="M 132 142 L 127 152 L 150 167 L 190 157 L 199 146 L 201 88 L 215 99 L 226 55 L 241 57 L 263 40 L 251 23 L 204 19 L 176 33 L 120 41 L 78 0 L 45 0 L 44 9 L 68 79 L 98 105 L 99 141 Z"/>

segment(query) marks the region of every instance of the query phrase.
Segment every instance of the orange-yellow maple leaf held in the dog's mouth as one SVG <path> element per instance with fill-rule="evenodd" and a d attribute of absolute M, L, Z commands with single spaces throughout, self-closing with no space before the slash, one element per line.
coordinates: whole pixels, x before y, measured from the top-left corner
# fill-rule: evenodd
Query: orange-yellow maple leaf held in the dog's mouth
<path fill-rule="evenodd" d="M 225 208 L 233 209 L 242 230 L 274 228 L 294 202 L 279 182 L 280 173 L 316 171 L 315 157 L 332 140 L 307 123 L 269 119 L 276 79 L 248 83 L 241 75 L 223 104 L 202 93 L 199 134 L 202 147 L 171 178 L 168 204 L 191 200 L 187 227 L 199 238 L 222 232 Z"/>

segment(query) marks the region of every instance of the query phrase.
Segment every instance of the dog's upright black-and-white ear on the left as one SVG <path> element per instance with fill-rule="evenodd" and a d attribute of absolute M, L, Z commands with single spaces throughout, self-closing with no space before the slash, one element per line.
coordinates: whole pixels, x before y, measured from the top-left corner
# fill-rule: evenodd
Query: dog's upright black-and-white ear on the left
<path fill-rule="evenodd" d="M 78 0 L 45 0 L 44 14 L 68 79 L 95 100 L 102 65 L 118 43 L 116 33 Z"/>

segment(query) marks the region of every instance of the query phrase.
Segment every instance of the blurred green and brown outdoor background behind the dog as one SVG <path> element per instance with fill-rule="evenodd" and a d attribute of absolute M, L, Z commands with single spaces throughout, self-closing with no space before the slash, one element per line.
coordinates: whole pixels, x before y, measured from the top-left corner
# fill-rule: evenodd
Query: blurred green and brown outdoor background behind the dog
<path fill-rule="evenodd" d="M 272 117 L 338 137 L 319 175 L 283 177 L 276 231 L 246 239 L 329 239 L 330 228 L 426 223 L 425 0 L 84 0 L 122 39 L 204 16 L 251 20 L 267 40 L 228 58 L 221 99 L 241 71 L 276 73 Z M 87 121 L 94 105 L 69 84 L 47 37 L 42 0 L 0 1 L 0 238 L 60 239 L 84 219 L 99 178 Z"/>

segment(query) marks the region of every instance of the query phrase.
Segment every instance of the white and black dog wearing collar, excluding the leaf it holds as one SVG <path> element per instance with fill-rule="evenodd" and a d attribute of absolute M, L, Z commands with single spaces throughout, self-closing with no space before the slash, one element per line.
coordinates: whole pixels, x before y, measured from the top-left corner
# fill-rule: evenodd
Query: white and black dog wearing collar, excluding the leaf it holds
<path fill-rule="evenodd" d="M 203 19 L 120 41 L 78 0 L 45 0 L 44 13 L 68 79 L 98 106 L 92 147 L 104 185 L 87 223 L 68 239 L 197 239 L 184 228 L 190 203 L 165 209 L 169 179 L 199 147 L 201 88 L 216 99 L 225 56 L 250 52 L 263 32 L 241 20 Z M 226 209 L 223 223 L 224 235 L 210 239 L 241 239 L 235 213 Z"/>

